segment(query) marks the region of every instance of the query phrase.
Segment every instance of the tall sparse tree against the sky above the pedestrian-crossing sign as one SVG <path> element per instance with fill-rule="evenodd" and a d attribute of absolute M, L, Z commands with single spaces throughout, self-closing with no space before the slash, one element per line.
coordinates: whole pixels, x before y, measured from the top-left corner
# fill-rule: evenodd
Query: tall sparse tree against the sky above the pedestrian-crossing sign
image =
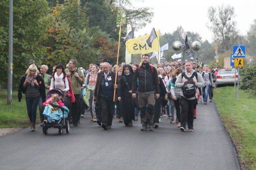
<path fill-rule="evenodd" d="M 233 20 L 235 16 L 234 7 L 230 5 L 208 8 L 210 24 L 207 27 L 213 32 L 215 40 L 221 42 L 221 46 L 227 51 L 231 49 L 231 37 L 237 35 L 236 21 Z"/>

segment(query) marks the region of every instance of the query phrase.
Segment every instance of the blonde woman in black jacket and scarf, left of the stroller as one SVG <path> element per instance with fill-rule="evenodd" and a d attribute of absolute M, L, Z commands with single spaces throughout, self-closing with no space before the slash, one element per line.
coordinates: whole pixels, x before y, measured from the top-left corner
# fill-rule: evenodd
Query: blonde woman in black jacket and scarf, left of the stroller
<path fill-rule="evenodd" d="M 26 96 L 26 105 L 28 117 L 30 119 L 31 131 L 35 131 L 35 121 L 37 118 L 37 105 L 42 96 L 45 101 L 45 82 L 40 75 L 37 75 L 37 66 L 31 64 L 26 71 L 26 74 L 21 78 L 18 90 L 19 102 L 22 98 L 22 93 Z"/>

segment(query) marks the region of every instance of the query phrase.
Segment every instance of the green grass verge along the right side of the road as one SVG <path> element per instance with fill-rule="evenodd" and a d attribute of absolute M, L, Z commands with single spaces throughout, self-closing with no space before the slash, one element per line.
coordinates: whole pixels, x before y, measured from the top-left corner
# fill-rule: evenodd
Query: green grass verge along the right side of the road
<path fill-rule="evenodd" d="M 237 89 L 236 89 L 237 92 Z M 223 119 L 237 151 L 248 170 L 256 170 L 256 97 L 254 91 L 239 90 L 239 100 L 234 86 L 215 88 L 214 103 Z"/>

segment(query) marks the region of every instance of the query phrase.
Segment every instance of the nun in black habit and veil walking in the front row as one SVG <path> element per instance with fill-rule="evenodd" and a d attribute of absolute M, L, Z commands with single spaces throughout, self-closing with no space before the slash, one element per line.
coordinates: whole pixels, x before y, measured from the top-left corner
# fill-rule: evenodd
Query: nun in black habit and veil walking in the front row
<path fill-rule="evenodd" d="M 120 88 L 118 88 L 117 99 L 122 105 L 122 116 L 125 126 L 132 126 L 132 120 L 135 120 L 134 107 L 132 106 L 132 80 L 134 71 L 130 65 L 124 65 L 122 76 L 119 80 Z"/>

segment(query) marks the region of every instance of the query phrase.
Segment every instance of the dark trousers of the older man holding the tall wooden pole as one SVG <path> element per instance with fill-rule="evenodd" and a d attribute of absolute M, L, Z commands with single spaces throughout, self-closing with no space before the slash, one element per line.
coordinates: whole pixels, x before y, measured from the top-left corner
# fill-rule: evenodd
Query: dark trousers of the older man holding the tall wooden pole
<path fill-rule="evenodd" d="M 101 122 L 105 123 L 107 126 L 112 125 L 113 121 L 113 107 L 114 102 L 112 100 L 104 99 L 103 97 L 99 97 L 98 101 L 101 109 Z"/>

